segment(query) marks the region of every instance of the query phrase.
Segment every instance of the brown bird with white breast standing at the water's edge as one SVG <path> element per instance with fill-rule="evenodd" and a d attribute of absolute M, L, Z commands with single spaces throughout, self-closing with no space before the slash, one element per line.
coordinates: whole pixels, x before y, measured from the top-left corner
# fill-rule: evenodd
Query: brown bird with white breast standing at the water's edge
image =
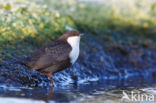
<path fill-rule="evenodd" d="M 82 35 L 84 34 L 77 30 L 65 32 L 57 40 L 51 41 L 31 55 L 19 60 L 18 63 L 48 76 L 54 87 L 52 75 L 70 67 L 78 59 Z"/>

